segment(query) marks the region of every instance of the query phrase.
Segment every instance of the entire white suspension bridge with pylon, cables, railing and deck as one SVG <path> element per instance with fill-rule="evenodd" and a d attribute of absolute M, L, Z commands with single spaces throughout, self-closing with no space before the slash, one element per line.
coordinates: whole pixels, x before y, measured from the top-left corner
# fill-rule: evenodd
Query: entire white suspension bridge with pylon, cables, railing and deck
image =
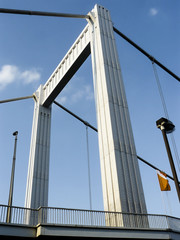
<path fill-rule="evenodd" d="M 0 12 L 84 18 L 88 22 L 47 82 L 40 85 L 32 96 L 0 101 L 6 103 L 33 98 L 35 104 L 25 207 L 0 205 L 0 235 L 178 239 L 179 218 L 147 213 L 138 159 L 156 170 L 160 169 L 137 156 L 114 32 L 152 62 L 166 117 L 167 109 L 155 64 L 175 80 L 180 81 L 180 78 L 115 28 L 109 11 L 102 6 L 96 5 L 87 15 L 12 9 L 0 9 Z M 55 101 L 90 54 L 97 129 Z M 52 104 L 56 104 L 86 126 L 90 210 L 48 206 Z M 98 132 L 104 211 L 92 210 L 88 128 Z M 175 180 L 174 176 L 167 176 Z M 178 180 L 177 185 L 179 186 Z"/>

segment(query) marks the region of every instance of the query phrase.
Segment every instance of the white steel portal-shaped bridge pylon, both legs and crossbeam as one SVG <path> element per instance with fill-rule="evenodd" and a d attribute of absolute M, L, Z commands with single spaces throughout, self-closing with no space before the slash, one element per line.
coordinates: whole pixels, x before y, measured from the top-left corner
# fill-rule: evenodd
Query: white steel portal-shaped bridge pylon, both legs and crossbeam
<path fill-rule="evenodd" d="M 104 210 L 146 213 L 110 14 L 96 5 L 89 16 L 63 60 L 35 92 L 25 207 L 48 205 L 51 104 L 91 54 Z"/>

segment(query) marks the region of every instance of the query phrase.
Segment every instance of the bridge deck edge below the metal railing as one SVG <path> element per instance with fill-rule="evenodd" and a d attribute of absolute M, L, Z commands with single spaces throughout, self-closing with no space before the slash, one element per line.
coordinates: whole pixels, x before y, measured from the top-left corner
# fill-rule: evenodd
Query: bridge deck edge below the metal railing
<path fill-rule="evenodd" d="M 67 226 L 39 224 L 35 227 L 0 224 L 0 236 L 17 239 L 180 239 L 180 233 L 169 229 L 128 229 L 114 227 Z"/>

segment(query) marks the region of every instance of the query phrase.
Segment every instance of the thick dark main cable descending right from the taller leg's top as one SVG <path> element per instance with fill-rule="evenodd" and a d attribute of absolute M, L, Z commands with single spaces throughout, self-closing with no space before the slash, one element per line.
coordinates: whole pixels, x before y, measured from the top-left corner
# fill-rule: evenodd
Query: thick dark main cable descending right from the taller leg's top
<path fill-rule="evenodd" d="M 125 39 L 128 43 L 130 43 L 133 47 L 135 47 L 137 50 L 139 50 L 142 54 L 144 54 L 146 57 L 148 57 L 151 61 L 155 62 L 159 67 L 161 67 L 164 71 L 169 73 L 172 77 L 174 77 L 176 80 L 178 80 L 180 82 L 180 77 L 178 77 L 175 73 L 173 73 L 171 70 L 169 70 L 167 67 L 165 67 L 162 63 L 160 63 L 158 60 L 156 60 L 153 56 L 151 56 L 149 53 L 147 53 L 144 49 L 142 49 L 140 46 L 138 46 L 136 43 L 134 43 L 131 39 L 129 39 L 127 36 L 125 36 L 117 28 L 113 27 L 113 30 L 119 36 L 121 36 L 123 39 Z"/>

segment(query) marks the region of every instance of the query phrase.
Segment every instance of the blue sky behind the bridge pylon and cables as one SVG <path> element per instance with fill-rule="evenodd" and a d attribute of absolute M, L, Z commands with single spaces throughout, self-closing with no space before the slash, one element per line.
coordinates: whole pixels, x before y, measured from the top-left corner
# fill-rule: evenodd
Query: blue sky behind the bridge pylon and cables
<path fill-rule="evenodd" d="M 88 13 L 98 3 L 109 9 L 114 26 L 180 75 L 178 0 L 0 0 L 1 8 Z M 44 84 L 87 24 L 83 19 L 0 14 L 0 99 L 33 94 Z M 151 62 L 115 34 L 137 154 L 171 174 L 156 120 L 164 116 Z M 179 83 L 157 67 L 179 151 Z M 96 126 L 91 57 L 57 97 L 65 107 Z M 24 206 L 34 103 L 0 105 L 0 203 L 7 204 L 14 147 L 19 131 L 14 201 Z M 92 208 L 103 210 L 97 133 L 89 129 Z M 174 152 L 173 157 L 174 157 Z M 179 153 L 180 154 L 180 153 Z M 53 105 L 49 206 L 89 209 L 86 129 Z M 175 161 L 176 163 L 176 161 Z M 161 193 L 156 171 L 139 162 L 149 213 L 180 216 L 171 192 Z M 179 175 L 178 165 L 176 164 Z M 166 207 L 165 207 L 165 206 Z"/>

